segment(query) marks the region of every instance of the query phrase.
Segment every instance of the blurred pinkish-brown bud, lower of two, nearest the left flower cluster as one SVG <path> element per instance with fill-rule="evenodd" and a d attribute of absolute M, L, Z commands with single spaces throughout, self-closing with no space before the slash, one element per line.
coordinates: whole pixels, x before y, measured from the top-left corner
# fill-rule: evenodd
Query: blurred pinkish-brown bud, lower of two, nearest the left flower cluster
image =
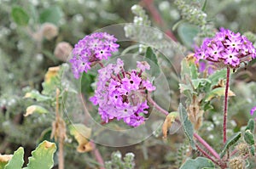
<path fill-rule="evenodd" d="M 68 42 L 59 42 L 55 47 L 55 57 L 61 61 L 67 61 L 69 54 L 71 54 L 73 47 Z"/>

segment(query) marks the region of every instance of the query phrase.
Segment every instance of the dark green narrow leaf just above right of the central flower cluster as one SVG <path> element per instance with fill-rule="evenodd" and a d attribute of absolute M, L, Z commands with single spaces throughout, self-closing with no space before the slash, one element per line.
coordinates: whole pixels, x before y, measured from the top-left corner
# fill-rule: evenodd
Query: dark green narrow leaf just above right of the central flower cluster
<path fill-rule="evenodd" d="M 152 48 L 148 47 L 147 48 L 147 51 L 146 51 L 146 58 L 149 59 L 150 61 L 152 61 L 154 63 L 154 65 L 152 65 L 152 63 L 148 63 L 150 65 L 150 68 L 151 70 L 153 68 L 155 68 L 153 71 L 152 71 L 152 76 L 159 76 L 160 75 L 160 67 L 158 65 L 158 60 L 156 58 L 156 55 L 154 54 L 154 51 Z"/>

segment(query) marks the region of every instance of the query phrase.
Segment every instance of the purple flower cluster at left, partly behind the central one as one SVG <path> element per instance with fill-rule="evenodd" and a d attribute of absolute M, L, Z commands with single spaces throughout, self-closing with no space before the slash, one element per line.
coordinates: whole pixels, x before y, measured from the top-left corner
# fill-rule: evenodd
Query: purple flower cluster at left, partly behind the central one
<path fill-rule="evenodd" d="M 70 59 L 75 78 L 90 70 L 90 66 L 97 61 L 108 59 L 111 53 L 118 51 L 119 44 L 116 42 L 117 39 L 106 32 L 96 32 L 79 40 Z"/>

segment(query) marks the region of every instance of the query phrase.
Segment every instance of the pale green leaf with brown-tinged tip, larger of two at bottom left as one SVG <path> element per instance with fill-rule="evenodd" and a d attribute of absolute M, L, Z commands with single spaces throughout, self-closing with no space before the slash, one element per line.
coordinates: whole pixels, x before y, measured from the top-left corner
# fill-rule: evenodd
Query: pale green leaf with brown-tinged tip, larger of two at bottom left
<path fill-rule="evenodd" d="M 39 144 L 37 149 L 32 151 L 32 157 L 28 158 L 26 169 L 50 169 L 54 166 L 54 153 L 56 146 L 53 143 L 44 141 Z"/>

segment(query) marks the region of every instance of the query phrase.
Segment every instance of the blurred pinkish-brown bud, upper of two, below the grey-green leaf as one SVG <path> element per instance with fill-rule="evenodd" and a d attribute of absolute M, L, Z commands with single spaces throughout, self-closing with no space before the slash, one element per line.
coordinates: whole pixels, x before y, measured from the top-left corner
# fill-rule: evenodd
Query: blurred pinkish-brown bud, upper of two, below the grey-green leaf
<path fill-rule="evenodd" d="M 43 36 L 51 40 L 59 34 L 59 28 L 51 23 L 44 23 L 41 27 Z"/>

